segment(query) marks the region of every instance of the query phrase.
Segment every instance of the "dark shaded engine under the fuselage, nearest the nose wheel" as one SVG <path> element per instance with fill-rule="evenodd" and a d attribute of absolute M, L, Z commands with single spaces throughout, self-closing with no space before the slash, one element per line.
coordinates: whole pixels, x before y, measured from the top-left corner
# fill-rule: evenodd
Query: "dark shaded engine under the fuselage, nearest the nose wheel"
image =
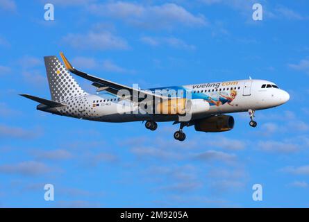
<path fill-rule="evenodd" d="M 227 115 L 219 115 L 201 119 L 194 124 L 194 128 L 200 132 L 224 132 L 234 128 L 234 118 Z"/>

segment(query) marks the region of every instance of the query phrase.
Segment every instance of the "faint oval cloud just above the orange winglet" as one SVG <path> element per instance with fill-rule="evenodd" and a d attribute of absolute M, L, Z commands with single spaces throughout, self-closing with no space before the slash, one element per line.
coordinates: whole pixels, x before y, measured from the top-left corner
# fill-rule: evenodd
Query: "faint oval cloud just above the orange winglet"
<path fill-rule="evenodd" d="M 126 40 L 110 32 L 90 32 L 87 34 L 69 33 L 63 37 L 63 41 L 75 49 L 108 50 L 129 48 Z"/>

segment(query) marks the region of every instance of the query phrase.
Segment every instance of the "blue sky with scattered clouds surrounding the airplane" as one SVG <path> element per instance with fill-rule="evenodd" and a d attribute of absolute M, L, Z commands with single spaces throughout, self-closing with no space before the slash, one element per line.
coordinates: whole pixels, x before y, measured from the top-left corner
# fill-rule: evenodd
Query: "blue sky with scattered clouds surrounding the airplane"
<path fill-rule="evenodd" d="M 308 1 L 0 0 L 1 207 L 309 207 Z M 263 20 L 251 18 L 253 3 Z M 43 56 L 140 87 L 261 78 L 281 107 L 233 114 L 227 133 L 99 123 L 35 110 L 50 98 Z M 86 80 L 76 78 L 88 92 Z M 44 185 L 55 200 L 44 200 Z M 261 184 L 263 200 L 253 201 Z"/>

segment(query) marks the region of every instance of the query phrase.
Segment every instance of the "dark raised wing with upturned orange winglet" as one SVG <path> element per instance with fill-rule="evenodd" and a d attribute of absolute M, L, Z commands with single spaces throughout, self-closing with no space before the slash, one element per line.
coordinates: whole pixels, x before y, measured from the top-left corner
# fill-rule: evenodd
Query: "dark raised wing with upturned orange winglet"
<path fill-rule="evenodd" d="M 96 77 L 96 76 L 92 76 L 90 74 L 86 74 L 83 71 L 78 71 L 77 69 L 72 67 L 72 65 L 69 63 L 67 58 L 65 58 L 65 55 L 62 52 L 60 53 L 60 56 L 61 56 L 63 62 L 65 62 L 65 67 L 69 71 L 76 74 L 77 76 L 81 76 L 82 78 L 85 78 L 87 80 L 92 81 L 93 82 L 92 85 L 97 87 L 97 92 L 101 92 L 101 91 L 105 90 L 107 92 L 110 92 L 111 94 L 117 95 L 119 90 L 126 89 L 131 94 L 131 100 L 133 99 L 133 94 L 138 95 L 142 99 L 145 99 L 146 96 L 153 96 L 153 98 L 156 97 L 156 98 L 160 98 L 160 99 L 166 99 L 167 98 L 166 96 L 160 96 L 158 94 L 153 94 L 152 92 L 148 92 L 148 91 L 141 90 L 141 89 L 134 89 L 133 87 L 128 87 L 126 85 L 122 85 L 122 84 L 119 84 L 119 83 L 114 83 L 110 80 L 105 80 L 103 78 L 99 78 L 99 77 Z"/>

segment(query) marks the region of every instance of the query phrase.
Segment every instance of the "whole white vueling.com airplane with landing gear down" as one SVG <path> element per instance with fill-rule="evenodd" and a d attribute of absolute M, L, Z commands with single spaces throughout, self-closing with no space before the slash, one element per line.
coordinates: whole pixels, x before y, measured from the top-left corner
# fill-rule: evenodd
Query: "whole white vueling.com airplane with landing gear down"
<path fill-rule="evenodd" d="M 172 87 L 140 89 L 86 74 L 72 67 L 61 52 L 64 65 L 56 56 L 44 57 L 51 100 L 20 94 L 40 103 L 37 110 L 66 117 L 102 122 L 146 121 L 156 130 L 158 122 L 179 124 L 174 139 L 185 140 L 183 128 L 217 133 L 232 130 L 234 118 L 229 113 L 248 112 L 251 127 L 256 110 L 286 103 L 290 95 L 268 80 L 228 80 Z M 72 74 L 90 80 L 97 94 L 85 92 Z"/>

